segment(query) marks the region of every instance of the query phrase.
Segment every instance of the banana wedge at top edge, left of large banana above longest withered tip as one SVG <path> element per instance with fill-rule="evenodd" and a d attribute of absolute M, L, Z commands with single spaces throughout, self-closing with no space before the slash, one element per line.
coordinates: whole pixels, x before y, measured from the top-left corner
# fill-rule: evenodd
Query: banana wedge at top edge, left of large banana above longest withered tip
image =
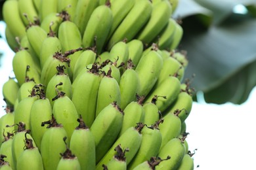
<path fill-rule="evenodd" d="M 98 7 L 98 0 L 78 0 L 75 8 L 74 23 L 79 28 L 79 31 L 83 37 L 85 28 L 89 22 L 89 18 L 93 13 L 93 10 Z"/>

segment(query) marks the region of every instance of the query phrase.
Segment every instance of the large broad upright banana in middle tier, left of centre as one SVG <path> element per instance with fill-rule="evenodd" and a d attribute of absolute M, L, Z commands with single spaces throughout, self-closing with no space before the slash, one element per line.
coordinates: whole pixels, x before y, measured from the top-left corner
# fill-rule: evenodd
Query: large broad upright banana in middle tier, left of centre
<path fill-rule="evenodd" d="M 88 71 L 82 71 L 72 84 L 72 102 L 77 113 L 83 117 L 85 124 L 89 127 L 95 120 L 96 101 L 101 76 L 98 65 L 95 63 Z"/>

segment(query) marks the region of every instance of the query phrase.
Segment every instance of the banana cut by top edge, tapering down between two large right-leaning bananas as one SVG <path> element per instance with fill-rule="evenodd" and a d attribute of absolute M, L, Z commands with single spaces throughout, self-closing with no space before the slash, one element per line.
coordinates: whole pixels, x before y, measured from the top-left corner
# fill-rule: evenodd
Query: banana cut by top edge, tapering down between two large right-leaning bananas
<path fill-rule="evenodd" d="M 116 31 L 118 25 L 123 21 L 125 16 L 127 16 L 127 14 L 133 8 L 134 5 L 135 0 L 110 0 L 110 9 L 112 10 L 113 14 L 113 24 L 111 25 L 110 33 L 108 34 L 108 39 L 110 39 L 114 31 Z"/>

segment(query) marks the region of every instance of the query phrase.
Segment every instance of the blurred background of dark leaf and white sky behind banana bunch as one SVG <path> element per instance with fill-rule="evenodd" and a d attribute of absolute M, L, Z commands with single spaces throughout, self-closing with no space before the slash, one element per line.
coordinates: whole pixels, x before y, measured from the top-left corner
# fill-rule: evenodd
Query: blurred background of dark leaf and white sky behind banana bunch
<path fill-rule="evenodd" d="M 197 93 L 186 120 L 195 169 L 256 169 L 255 17 L 255 0 L 180 0 L 175 10 L 184 30 L 178 50 L 186 50 L 189 61 L 184 78 L 196 75 L 192 87 Z M 2 89 L 14 77 L 14 52 L 3 21 L 0 35 Z M 1 117 L 2 92 L 0 97 Z"/>

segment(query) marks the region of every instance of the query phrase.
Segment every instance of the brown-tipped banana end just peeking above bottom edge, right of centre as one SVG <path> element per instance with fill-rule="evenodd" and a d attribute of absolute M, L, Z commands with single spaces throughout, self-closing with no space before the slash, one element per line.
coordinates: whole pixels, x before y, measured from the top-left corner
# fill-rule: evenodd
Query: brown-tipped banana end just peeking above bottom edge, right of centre
<path fill-rule="evenodd" d="M 161 161 L 169 160 L 171 157 L 167 156 L 166 159 L 161 159 L 159 157 L 151 157 L 150 160 L 144 161 L 137 165 L 133 170 L 154 170 L 156 169 L 156 166 L 158 166 Z"/>

